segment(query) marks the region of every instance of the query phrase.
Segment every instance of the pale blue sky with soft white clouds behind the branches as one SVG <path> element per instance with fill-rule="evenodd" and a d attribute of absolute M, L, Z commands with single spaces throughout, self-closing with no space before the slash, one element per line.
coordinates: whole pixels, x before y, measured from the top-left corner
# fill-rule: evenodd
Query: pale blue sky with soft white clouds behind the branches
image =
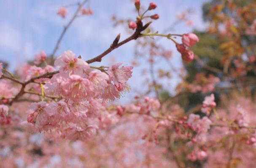
<path fill-rule="evenodd" d="M 1 0 L 0 1 L 0 60 L 7 61 L 10 69 L 34 57 L 35 53 L 41 50 L 51 53 L 59 37 L 63 26 L 67 23 L 75 7 L 69 8 L 70 14 L 67 19 L 57 16 L 60 6 L 78 2 L 77 0 Z M 143 5 L 148 6 L 151 0 L 141 0 Z M 152 24 L 155 30 L 161 32 L 175 20 L 177 13 L 187 8 L 194 10 L 190 17 L 194 21 L 194 27 L 178 25 L 170 33 L 186 33 L 193 29 L 204 29 L 202 21 L 202 4 L 207 0 L 155 0 L 158 7 L 153 13 L 158 13 L 160 19 Z M 113 28 L 111 16 L 116 14 L 118 18 L 135 18 L 134 5 L 132 0 L 89 0 L 86 5 L 92 8 L 94 15 L 81 17 L 68 29 L 65 37 L 57 51 L 57 56 L 65 50 L 72 50 L 81 55 L 84 60 L 93 58 L 105 51 L 118 33 L 121 33 L 121 40 L 129 36 L 124 26 Z M 175 46 L 169 41 L 162 39 L 162 45 L 173 49 Z M 109 65 L 111 58 L 122 61 L 129 65 L 133 58 L 134 42 L 121 46 L 108 56 L 101 65 Z M 172 63 L 176 67 L 182 66 L 181 58 L 175 52 Z M 97 65 L 97 64 L 96 64 Z M 161 67 L 167 66 L 161 64 Z M 157 68 L 157 67 L 156 67 Z M 140 84 L 140 68 L 134 69 L 134 75 L 130 85 Z M 177 83 L 177 81 L 171 81 Z M 174 85 L 172 86 L 174 87 Z M 172 88 L 173 89 L 173 88 Z"/>

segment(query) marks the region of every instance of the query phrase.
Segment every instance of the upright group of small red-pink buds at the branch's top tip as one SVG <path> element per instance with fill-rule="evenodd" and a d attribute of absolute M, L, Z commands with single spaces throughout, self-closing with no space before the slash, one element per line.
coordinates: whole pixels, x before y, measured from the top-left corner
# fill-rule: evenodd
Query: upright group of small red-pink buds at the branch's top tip
<path fill-rule="evenodd" d="M 148 9 L 142 15 L 140 15 L 140 0 L 136 0 L 134 5 L 135 5 L 135 8 L 136 8 L 136 10 L 138 11 L 138 14 L 139 14 L 139 16 L 137 16 L 137 21 L 141 21 L 144 18 L 151 18 L 151 19 L 154 19 L 154 20 L 159 19 L 158 14 L 154 14 L 154 15 L 151 15 L 151 16 L 144 16 L 147 11 L 154 10 L 157 7 L 156 3 L 150 3 L 149 6 L 148 6 Z M 137 23 L 135 21 L 130 21 L 128 25 L 129 25 L 130 29 L 136 29 L 137 28 Z"/>

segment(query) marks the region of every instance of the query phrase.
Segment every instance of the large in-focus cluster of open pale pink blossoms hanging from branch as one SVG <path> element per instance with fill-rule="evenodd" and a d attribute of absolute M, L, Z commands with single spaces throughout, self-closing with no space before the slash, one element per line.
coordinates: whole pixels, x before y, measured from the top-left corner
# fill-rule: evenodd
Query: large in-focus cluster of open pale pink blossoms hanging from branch
<path fill-rule="evenodd" d="M 43 80 L 45 93 L 56 96 L 58 101 L 32 103 L 25 125 L 49 136 L 54 134 L 73 140 L 95 134 L 100 123 L 111 117 L 105 109 L 106 101 L 119 98 L 128 88 L 132 67 L 120 67 L 121 64 L 101 72 L 76 58 L 72 51 L 65 51 L 54 62 L 59 73 L 50 80 Z M 46 67 L 31 66 L 27 70 L 29 78 L 45 72 Z"/>

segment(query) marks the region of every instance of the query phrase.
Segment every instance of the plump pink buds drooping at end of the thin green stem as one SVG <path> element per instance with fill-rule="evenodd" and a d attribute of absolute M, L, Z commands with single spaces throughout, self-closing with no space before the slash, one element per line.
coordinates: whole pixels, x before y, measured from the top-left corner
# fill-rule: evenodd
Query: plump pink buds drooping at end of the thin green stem
<path fill-rule="evenodd" d="M 181 53 L 183 61 L 193 61 L 194 53 L 188 48 L 194 46 L 197 42 L 199 42 L 197 35 L 194 33 L 189 33 L 182 35 L 182 44 L 176 43 L 176 48 Z"/>

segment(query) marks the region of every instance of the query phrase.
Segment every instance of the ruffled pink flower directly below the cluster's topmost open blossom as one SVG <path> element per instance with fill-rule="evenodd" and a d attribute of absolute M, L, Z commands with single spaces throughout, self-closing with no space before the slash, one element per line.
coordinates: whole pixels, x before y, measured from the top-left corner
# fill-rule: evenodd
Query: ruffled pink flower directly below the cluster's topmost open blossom
<path fill-rule="evenodd" d="M 64 96 L 73 101 L 89 99 L 94 93 L 92 83 L 79 75 L 70 75 L 67 82 L 62 83 Z"/>

